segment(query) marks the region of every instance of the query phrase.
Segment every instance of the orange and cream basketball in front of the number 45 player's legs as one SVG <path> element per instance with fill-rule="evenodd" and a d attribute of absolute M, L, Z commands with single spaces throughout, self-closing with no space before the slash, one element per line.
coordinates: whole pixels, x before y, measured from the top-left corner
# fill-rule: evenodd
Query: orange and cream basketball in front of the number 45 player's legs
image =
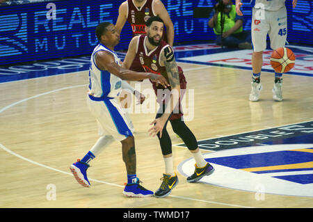
<path fill-rule="evenodd" d="M 271 54 L 271 65 L 275 72 L 278 73 L 289 72 L 289 70 L 294 68 L 295 61 L 294 52 L 286 47 L 275 49 Z"/>

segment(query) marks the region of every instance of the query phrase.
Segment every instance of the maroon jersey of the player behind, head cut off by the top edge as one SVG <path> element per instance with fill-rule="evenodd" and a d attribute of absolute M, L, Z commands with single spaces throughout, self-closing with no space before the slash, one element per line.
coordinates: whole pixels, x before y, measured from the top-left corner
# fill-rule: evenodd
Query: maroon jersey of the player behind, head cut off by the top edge
<path fill-rule="evenodd" d="M 127 0 L 128 14 L 127 21 L 131 25 L 133 37 L 136 35 L 145 34 L 145 22 L 150 17 L 155 16 L 152 9 L 152 1 L 147 0 L 141 8 L 134 5 L 133 0 Z"/>

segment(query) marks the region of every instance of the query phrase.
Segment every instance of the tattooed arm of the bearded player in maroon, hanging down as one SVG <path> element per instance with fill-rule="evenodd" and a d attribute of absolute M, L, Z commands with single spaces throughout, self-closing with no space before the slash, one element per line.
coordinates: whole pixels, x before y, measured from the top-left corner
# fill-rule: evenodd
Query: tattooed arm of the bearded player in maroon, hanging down
<path fill-rule="evenodd" d="M 179 72 L 172 47 L 168 46 L 161 51 L 161 65 L 164 65 L 166 68 L 168 81 L 172 90 L 170 90 L 170 100 L 166 103 L 163 115 L 150 124 L 154 125 L 154 127 L 149 129 L 150 136 L 155 136 L 160 133 L 160 137 L 162 136 L 163 127 L 170 117 L 170 113 L 172 113 L 175 107 L 178 107 L 177 104 L 179 103 L 180 97 Z"/>

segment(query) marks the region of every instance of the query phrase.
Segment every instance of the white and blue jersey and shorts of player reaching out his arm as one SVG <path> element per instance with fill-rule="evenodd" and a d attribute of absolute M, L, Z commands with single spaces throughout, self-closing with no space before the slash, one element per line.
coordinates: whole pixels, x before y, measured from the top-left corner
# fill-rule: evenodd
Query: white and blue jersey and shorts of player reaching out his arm
<path fill-rule="evenodd" d="M 113 54 L 115 63 L 121 65 L 115 51 L 102 44 L 95 47 L 90 58 L 88 108 L 97 120 L 99 136 L 113 136 L 116 141 L 122 141 L 134 133 L 134 126 L 118 100 L 125 81 L 97 67 L 95 54 L 100 50 L 109 51 Z"/>

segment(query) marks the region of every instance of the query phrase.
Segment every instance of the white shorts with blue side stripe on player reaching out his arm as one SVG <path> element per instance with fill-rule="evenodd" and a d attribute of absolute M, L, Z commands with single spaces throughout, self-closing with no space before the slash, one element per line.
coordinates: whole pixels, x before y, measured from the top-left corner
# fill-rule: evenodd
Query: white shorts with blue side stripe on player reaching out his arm
<path fill-rule="evenodd" d="M 88 109 L 97 120 L 99 136 L 113 136 L 116 141 L 133 136 L 134 126 L 129 114 L 122 109 L 118 97 L 97 101 L 88 95 Z"/>

